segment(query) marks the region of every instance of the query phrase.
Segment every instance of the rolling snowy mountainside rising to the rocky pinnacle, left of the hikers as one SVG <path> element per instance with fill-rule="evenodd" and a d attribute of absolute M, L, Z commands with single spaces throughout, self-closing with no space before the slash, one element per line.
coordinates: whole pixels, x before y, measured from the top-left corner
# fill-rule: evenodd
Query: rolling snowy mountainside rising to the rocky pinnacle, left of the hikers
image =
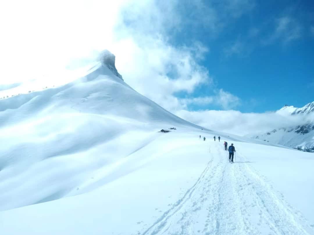
<path fill-rule="evenodd" d="M 173 125 L 199 128 L 143 97 L 103 65 L 65 86 L 0 104 L 0 210 L 68 195 L 90 171 L 141 148 L 138 138 L 154 138 L 151 132 Z"/>

